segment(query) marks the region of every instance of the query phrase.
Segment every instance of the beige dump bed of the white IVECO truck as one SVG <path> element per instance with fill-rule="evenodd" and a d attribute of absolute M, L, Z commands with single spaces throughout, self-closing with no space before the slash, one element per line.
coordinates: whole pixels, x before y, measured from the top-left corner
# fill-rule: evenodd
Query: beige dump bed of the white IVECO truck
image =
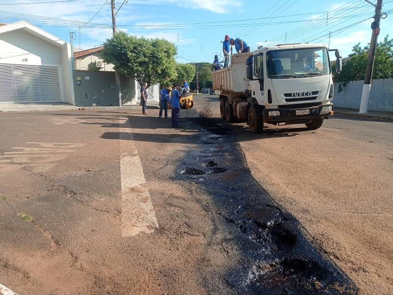
<path fill-rule="evenodd" d="M 213 89 L 229 92 L 244 92 L 248 88 L 246 59 L 251 53 L 234 54 L 230 67 L 213 71 Z"/>

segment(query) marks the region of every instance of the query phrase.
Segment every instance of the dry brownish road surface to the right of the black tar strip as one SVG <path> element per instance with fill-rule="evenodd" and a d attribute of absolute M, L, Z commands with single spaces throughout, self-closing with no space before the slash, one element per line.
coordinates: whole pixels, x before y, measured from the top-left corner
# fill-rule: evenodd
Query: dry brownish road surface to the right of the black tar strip
<path fill-rule="evenodd" d="M 217 97 L 195 105 L 219 117 Z M 245 124 L 230 130 L 253 177 L 361 293 L 393 294 L 393 123 L 335 116 L 315 131 L 266 125 L 254 135 Z"/>

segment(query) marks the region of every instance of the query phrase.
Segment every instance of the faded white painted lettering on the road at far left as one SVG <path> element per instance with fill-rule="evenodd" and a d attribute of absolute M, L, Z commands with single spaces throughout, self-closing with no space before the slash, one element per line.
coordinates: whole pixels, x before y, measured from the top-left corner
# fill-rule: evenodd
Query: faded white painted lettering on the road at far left
<path fill-rule="evenodd" d="M 85 144 L 72 143 L 33 143 L 28 145 L 38 147 L 14 147 L 22 151 L 7 151 L 0 154 L 1 172 L 14 172 L 20 168 L 28 167 L 32 172 L 45 172 L 56 165 L 57 161 L 66 158 L 75 148 L 83 147 Z"/>

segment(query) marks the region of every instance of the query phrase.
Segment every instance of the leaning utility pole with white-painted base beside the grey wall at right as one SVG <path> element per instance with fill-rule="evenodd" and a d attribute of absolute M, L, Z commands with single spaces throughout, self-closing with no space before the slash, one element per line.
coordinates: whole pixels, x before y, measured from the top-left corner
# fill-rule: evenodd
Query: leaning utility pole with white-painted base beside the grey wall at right
<path fill-rule="evenodd" d="M 369 2 L 369 1 L 367 1 L 367 2 Z M 369 3 L 371 3 L 371 2 L 369 2 Z M 374 4 L 372 4 L 372 5 L 374 5 Z M 371 34 L 370 49 L 368 50 L 367 68 L 365 71 L 365 84 L 363 85 L 362 100 L 360 102 L 360 109 L 359 109 L 360 114 L 365 114 L 365 113 L 367 113 L 367 110 L 368 110 L 368 100 L 370 98 L 372 71 L 374 69 L 374 60 L 375 60 L 375 51 L 377 48 L 378 35 L 379 35 L 379 31 L 380 31 L 379 23 L 381 21 L 382 0 L 377 0 L 377 4 L 374 6 L 375 6 L 375 16 L 374 16 L 374 21 L 371 24 L 372 34 Z"/>

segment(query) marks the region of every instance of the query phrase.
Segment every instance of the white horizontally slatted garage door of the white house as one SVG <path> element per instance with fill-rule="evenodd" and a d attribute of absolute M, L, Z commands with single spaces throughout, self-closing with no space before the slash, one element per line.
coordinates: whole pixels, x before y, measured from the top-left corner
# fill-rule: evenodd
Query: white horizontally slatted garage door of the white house
<path fill-rule="evenodd" d="M 61 102 L 58 67 L 0 63 L 1 102 Z"/>

